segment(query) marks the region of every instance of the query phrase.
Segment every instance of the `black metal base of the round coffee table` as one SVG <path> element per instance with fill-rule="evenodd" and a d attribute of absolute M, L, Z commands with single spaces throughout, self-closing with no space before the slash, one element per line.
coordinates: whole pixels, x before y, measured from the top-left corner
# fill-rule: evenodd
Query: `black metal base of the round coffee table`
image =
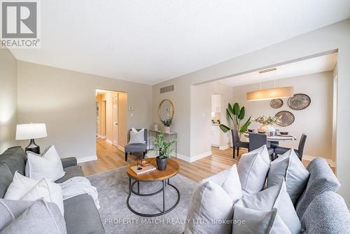
<path fill-rule="evenodd" d="M 133 178 L 134 179 L 134 178 Z M 139 216 L 144 216 L 144 217 L 154 217 L 154 216 L 160 216 L 160 215 L 163 215 L 163 214 L 167 214 L 168 212 L 171 212 L 177 205 L 179 205 L 179 202 L 180 202 L 180 192 L 179 190 L 172 184 L 170 184 L 169 182 L 169 179 L 164 179 L 162 180 L 162 188 L 160 188 L 159 191 L 156 191 L 154 193 L 140 193 L 140 181 L 137 180 L 137 179 L 134 179 L 134 183 L 132 183 L 132 178 L 129 177 L 129 195 L 127 196 L 127 207 L 130 209 L 131 212 L 133 212 L 134 214 L 137 214 Z M 146 182 L 146 181 L 144 181 Z M 153 181 L 154 182 L 154 181 Z M 146 182 L 147 183 L 147 182 Z M 137 184 L 137 192 L 134 191 L 134 184 Z M 176 193 L 177 193 L 177 200 L 176 200 L 176 203 L 175 205 L 173 205 L 172 207 L 170 207 L 169 209 L 165 209 L 165 187 L 166 186 L 172 186 Z M 130 200 L 130 197 L 132 195 L 132 193 L 134 193 L 135 195 L 139 195 L 139 196 L 151 196 L 151 195 L 155 195 L 155 194 L 158 194 L 160 192 L 163 192 L 163 211 L 160 212 L 160 213 L 157 213 L 157 214 L 143 214 L 143 213 L 140 213 L 140 212 L 137 212 L 136 210 L 132 209 L 132 207 L 130 206 L 130 203 L 129 203 L 129 200 Z"/>

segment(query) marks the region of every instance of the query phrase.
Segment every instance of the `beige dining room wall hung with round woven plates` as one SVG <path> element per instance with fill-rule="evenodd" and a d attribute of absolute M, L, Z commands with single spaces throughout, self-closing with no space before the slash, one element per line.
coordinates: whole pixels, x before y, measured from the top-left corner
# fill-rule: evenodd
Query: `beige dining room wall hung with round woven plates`
<path fill-rule="evenodd" d="M 261 84 L 262 89 L 273 88 L 274 81 Z M 288 106 L 288 99 L 283 99 L 283 106 L 273 109 L 270 100 L 248 102 L 246 92 L 259 90 L 260 84 L 242 85 L 233 88 L 233 100 L 246 108 L 246 117 L 274 116 L 279 111 L 290 111 L 295 116 L 293 124 L 287 127 L 274 125 L 274 128 L 289 132 L 297 141 L 281 142 L 281 146 L 297 149 L 302 133 L 307 135 L 304 155 L 332 158 L 332 72 L 322 72 L 307 76 L 297 76 L 276 80 L 277 87 L 293 86 L 295 93 L 304 93 L 311 98 L 307 109 L 295 111 Z M 251 123 L 249 128 L 257 129 L 259 123 Z M 244 138 L 243 138 L 244 139 Z M 246 139 L 244 139 L 246 140 Z"/>

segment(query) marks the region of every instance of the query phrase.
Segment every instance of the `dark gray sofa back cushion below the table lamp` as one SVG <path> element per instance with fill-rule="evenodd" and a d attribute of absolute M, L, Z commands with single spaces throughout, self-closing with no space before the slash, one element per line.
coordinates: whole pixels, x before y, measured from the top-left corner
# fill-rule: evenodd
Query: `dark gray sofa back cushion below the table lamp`
<path fill-rule="evenodd" d="M 12 175 L 15 174 L 15 171 L 18 171 L 20 174 L 25 174 L 25 161 L 27 156 L 25 151 L 21 146 L 14 146 L 8 148 L 5 152 L 0 155 L 0 163 L 6 163 Z"/>

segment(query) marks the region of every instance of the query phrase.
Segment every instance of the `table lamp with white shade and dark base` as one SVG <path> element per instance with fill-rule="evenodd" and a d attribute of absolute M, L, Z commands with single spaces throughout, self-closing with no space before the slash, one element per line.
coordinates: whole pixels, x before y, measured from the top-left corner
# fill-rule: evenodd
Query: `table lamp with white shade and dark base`
<path fill-rule="evenodd" d="M 34 139 L 47 137 L 45 123 L 18 124 L 16 129 L 16 140 L 30 139 L 25 151 L 40 153 L 40 147 L 35 144 Z"/>

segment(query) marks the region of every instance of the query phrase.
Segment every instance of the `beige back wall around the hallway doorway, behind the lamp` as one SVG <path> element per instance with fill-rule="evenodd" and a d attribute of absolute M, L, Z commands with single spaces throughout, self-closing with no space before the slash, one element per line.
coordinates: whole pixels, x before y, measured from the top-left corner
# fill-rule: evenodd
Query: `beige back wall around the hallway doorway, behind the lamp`
<path fill-rule="evenodd" d="M 127 92 L 127 128 L 149 128 L 151 85 L 83 74 L 18 61 L 18 122 L 46 123 L 48 137 L 36 142 L 55 145 L 62 158 L 96 156 L 95 89 Z M 130 117 L 130 112 L 134 114 Z M 27 141 L 22 142 L 22 145 Z"/>

